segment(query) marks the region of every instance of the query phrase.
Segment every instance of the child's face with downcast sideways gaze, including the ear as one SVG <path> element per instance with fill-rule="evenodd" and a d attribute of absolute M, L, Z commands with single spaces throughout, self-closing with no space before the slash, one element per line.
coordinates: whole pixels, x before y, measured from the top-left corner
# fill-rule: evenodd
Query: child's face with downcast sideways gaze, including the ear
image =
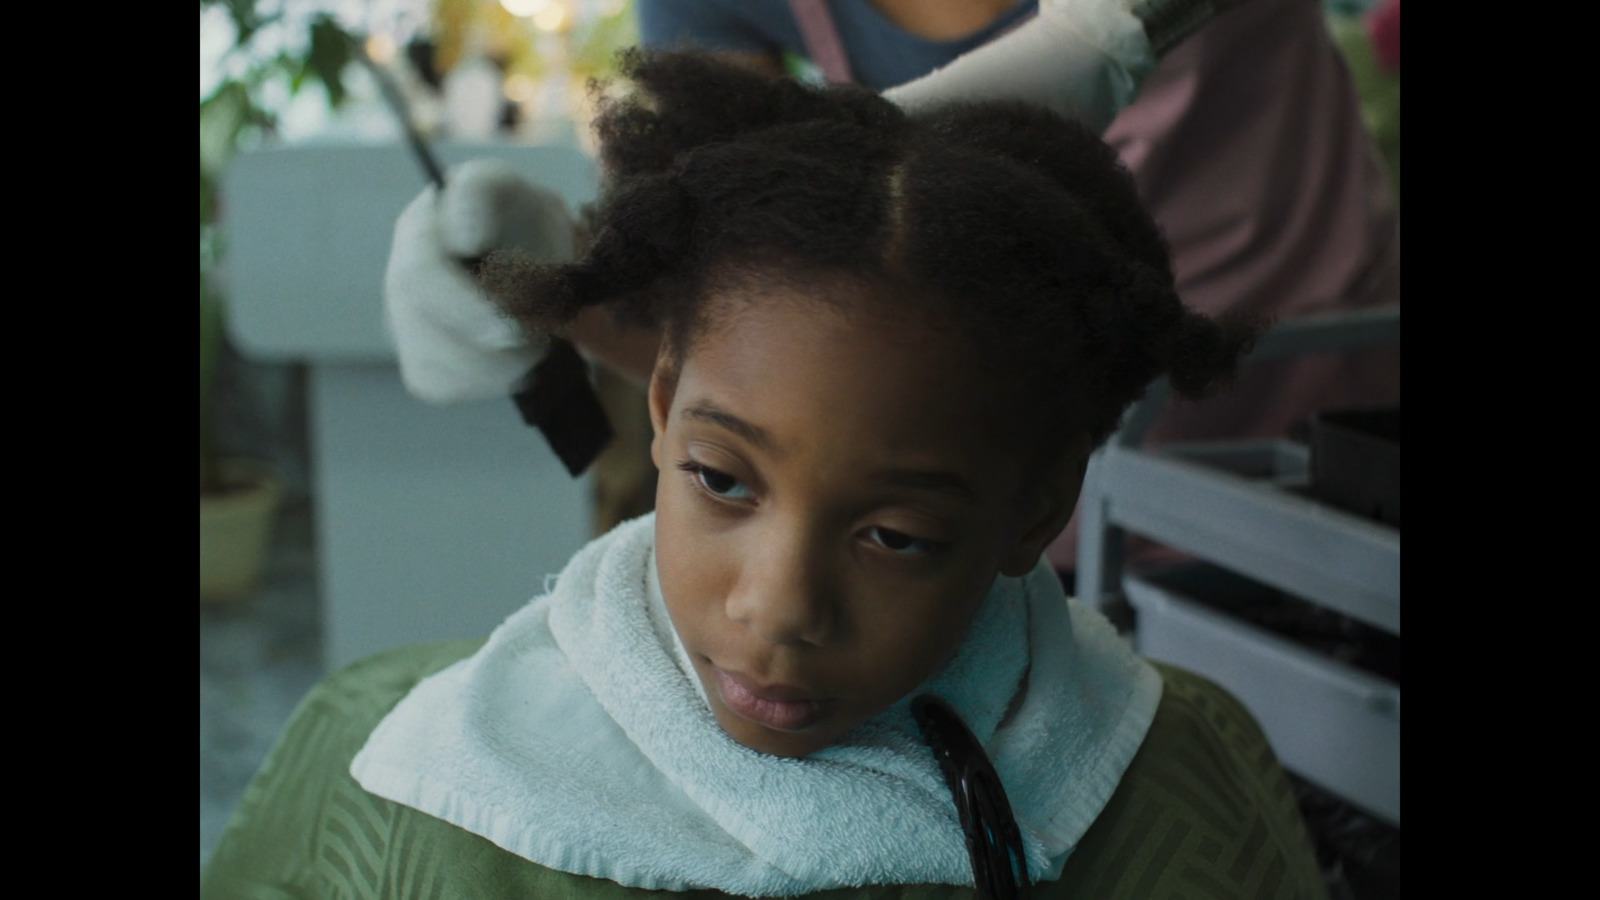
<path fill-rule="evenodd" d="M 995 575 L 1066 524 L 1082 460 L 1024 484 L 957 335 L 760 293 L 714 299 L 651 381 L 656 559 L 722 727 L 805 756 L 954 655 Z"/>

